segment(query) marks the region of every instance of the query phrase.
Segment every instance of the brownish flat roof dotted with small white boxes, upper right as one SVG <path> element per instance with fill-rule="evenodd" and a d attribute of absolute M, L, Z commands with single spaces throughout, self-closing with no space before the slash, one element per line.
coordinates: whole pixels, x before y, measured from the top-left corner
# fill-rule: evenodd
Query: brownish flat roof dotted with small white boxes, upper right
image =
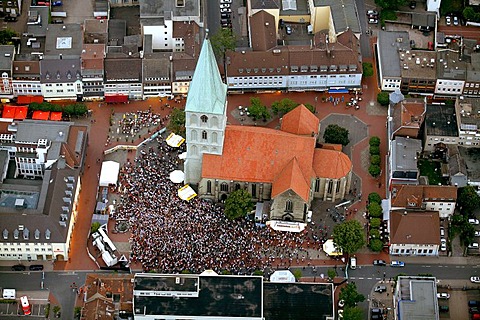
<path fill-rule="evenodd" d="M 436 52 L 405 50 L 399 52 L 402 78 L 436 79 Z"/>

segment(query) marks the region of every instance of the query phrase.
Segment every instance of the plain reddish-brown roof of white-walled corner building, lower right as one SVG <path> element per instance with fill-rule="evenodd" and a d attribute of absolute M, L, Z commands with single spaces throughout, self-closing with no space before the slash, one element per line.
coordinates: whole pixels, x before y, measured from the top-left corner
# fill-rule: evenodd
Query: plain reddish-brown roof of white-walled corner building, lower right
<path fill-rule="evenodd" d="M 390 213 L 390 242 L 440 244 L 440 218 L 435 211 L 394 210 Z"/>

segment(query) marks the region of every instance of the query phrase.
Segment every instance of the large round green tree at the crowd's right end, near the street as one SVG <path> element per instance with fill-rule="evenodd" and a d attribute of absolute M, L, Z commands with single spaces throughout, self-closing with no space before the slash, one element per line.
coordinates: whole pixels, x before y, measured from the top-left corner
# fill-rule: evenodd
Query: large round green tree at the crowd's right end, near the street
<path fill-rule="evenodd" d="M 365 245 L 363 226 L 357 220 L 348 220 L 333 228 L 335 245 L 346 254 L 353 254 Z"/>

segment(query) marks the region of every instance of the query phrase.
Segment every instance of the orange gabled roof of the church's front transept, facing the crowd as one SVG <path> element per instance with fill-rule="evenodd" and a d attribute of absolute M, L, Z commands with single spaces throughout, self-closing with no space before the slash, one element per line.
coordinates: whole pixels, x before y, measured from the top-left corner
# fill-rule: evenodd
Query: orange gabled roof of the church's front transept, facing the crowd
<path fill-rule="evenodd" d="M 292 190 L 305 202 L 308 202 L 310 185 L 307 181 L 303 176 L 302 170 L 300 170 L 297 158 L 293 158 L 280 174 L 275 177 L 272 184 L 272 198 L 285 191 Z"/>

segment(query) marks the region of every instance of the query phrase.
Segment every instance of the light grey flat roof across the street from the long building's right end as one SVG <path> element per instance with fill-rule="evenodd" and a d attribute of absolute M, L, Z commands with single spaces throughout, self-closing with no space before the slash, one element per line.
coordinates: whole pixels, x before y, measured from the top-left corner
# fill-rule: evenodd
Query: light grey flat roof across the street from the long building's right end
<path fill-rule="evenodd" d="M 401 39 L 401 42 L 399 39 Z M 377 46 L 380 55 L 382 76 L 400 78 L 402 72 L 400 69 L 398 49 L 408 50 L 410 48 L 408 32 L 379 31 Z"/>

